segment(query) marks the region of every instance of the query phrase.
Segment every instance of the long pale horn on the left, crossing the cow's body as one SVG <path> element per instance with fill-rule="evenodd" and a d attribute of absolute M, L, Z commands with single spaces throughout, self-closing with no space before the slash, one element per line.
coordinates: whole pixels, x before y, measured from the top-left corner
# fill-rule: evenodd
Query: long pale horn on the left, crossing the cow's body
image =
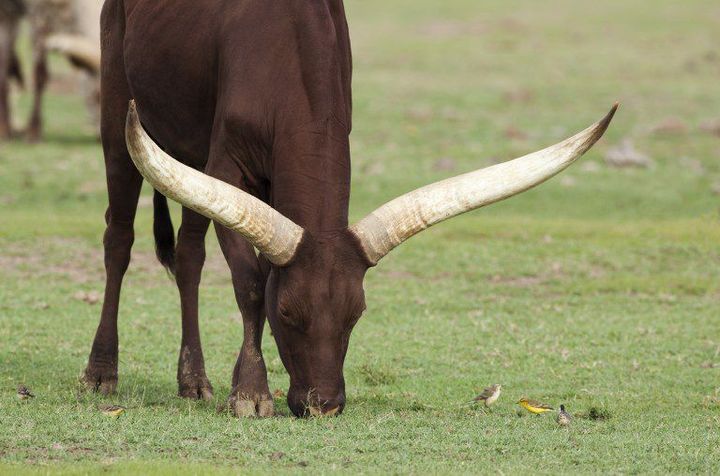
<path fill-rule="evenodd" d="M 273 264 L 284 266 L 295 256 L 302 227 L 249 193 L 166 154 L 140 124 L 135 101 L 130 101 L 125 141 L 135 166 L 155 190 L 237 231 Z"/>

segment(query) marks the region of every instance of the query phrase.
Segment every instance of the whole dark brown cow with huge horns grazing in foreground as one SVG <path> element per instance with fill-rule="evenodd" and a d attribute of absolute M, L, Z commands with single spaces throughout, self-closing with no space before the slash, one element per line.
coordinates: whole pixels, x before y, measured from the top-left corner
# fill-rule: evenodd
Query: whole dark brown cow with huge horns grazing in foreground
<path fill-rule="evenodd" d="M 290 375 L 292 412 L 340 413 L 366 271 L 427 227 L 557 174 L 615 112 L 560 144 L 410 192 L 348 226 L 351 56 L 342 0 L 108 0 L 102 31 L 107 283 L 85 381 L 102 392 L 117 383 L 120 286 L 144 176 L 184 206 L 173 253 L 167 203 L 156 192 L 158 256 L 180 290 L 185 397 L 212 396 L 198 285 L 215 222 L 245 331 L 229 398 L 239 416 L 273 413 L 260 346 L 266 315 Z"/>

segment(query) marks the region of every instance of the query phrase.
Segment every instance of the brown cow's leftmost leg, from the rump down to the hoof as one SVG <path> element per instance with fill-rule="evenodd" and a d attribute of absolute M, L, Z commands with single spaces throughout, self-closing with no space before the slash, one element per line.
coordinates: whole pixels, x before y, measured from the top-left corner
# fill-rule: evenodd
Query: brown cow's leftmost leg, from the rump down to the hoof
<path fill-rule="evenodd" d="M 122 3 L 119 3 L 122 6 Z M 130 92 L 125 79 L 120 22 L 108 8 L 103 19 L 102 139 L 105 154 L 109 206 L 105 213 L 105 300 L 84 380 L 88 387 L 112 393 L 117 385 L 117 315 L 122 279 L 130 263 L 134 240 L 133 222 L 142 176 L 125 146 L 125 116 Z M 120 9 L 116 14 L 124 14 Z"/>

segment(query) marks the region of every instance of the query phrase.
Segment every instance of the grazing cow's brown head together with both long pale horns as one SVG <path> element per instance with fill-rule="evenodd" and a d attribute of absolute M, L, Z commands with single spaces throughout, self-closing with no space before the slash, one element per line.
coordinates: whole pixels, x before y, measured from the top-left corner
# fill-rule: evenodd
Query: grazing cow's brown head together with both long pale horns
<path fill-rule="evenodd" d="M 601 121 L 547 149 L 405 194 L 347 230 L 316 236 L 257 198 L 193 170 L 160 149 L 134 103 L 128 150 L 162 194 L 237 231 L 274 266 L 266 286 L 268 320 L 290 374 L 288 404 L 298 416 L 337 414 L 345 405 L 343 362 L 365 309 L 371 266 L 416 233 L 447 218 L 521 193 L 559 173 L 607 129 Z"/>

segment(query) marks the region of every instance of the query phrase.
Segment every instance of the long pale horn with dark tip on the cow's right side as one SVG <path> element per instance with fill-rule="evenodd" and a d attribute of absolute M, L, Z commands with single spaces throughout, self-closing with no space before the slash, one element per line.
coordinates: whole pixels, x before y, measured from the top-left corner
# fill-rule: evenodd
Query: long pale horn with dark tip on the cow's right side
<path fill-rule="evenodd" d="M 372 264 L 426 228 L 498 202 L 561 172 L 597 142 L 618 104 L 599 122 L 547 149 L 419 188 L 381 206 L 350 230 Z"/>

